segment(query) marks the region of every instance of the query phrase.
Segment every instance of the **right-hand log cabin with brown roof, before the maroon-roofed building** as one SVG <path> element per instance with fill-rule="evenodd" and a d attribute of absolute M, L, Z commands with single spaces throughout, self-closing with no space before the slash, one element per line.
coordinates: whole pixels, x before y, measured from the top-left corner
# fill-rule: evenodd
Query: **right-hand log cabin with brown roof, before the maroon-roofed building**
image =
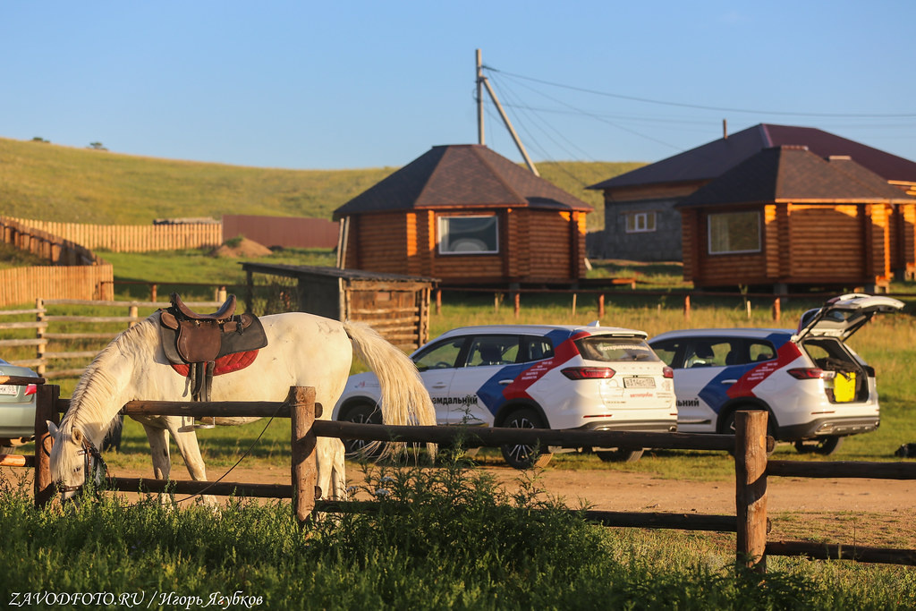
<path fill-rule="evenodd" d="M 698 288 L 878 289 L 916 266 L 916 199 L 848 157 L 767 148 L 677 207 Z"/>

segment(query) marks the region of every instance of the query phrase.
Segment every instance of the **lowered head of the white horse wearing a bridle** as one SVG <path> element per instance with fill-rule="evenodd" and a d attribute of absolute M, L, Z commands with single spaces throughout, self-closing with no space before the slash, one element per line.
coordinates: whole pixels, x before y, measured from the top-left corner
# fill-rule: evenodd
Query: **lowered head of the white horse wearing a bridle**
<path fill-rule="evenodd" d="M 48 422 L 48 432 L 54 438 L 50 455 L 51 481 L 60 490 L 60 500 L 68 501 L 82 494 L 87 474 L 95 485 L 102 484 L 107 466 L 102 453 L 77 426 Z"/>

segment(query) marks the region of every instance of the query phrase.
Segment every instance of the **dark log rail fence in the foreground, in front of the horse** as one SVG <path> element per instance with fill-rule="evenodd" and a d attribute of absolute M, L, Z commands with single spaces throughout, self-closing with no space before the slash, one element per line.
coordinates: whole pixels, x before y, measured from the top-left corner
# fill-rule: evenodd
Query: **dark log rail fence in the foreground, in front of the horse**
<path fill-rule="evenodd" d="M 34 383 L 34 379 L 29 380 Z M 34 466 L 35 502 L 46 505 L 54 494 L 49 475 L 52 440 L 47 420 L 58 421 L 69 401 L 60 399 L 60 388 L 39 387 L 36 408 L 36 444 L 33 457 L 0 457 L 0 466 Z M 314 390 L 291 387 L 282 404 L 269 402 L 131 401 L 126 414 L 159 414 L 195 419 L 212 416 L 289 415 L 292 419 L 292 485 L 264 486 L 238 483 L 151 482 L 114 478 L 119 490 L 157 492 L 165 489 L 188 494 L 268 496 L 293 498 L 298 519 L 308 518 L 312 510 L 344 512 L 373 510 L 375 502 L 322 501 L 316 490 L 317 437 L 361 439 L 365 441 L 460 442 L 467 447 L 499 447 L 507 443 L 540 444 L 565 447 L 650 447 L 681 450 L 733 450 L 736 473 L 736 515 L 697 515 L 644 512 L 586 511 L 585 518 L 607 526 L 653 529 L 687 529 L 736 532 L 736 562 L 760 573 L 766 572 L 768 555 L 808 556 L 823 559 L 853 559 L 860 562 L 885 562 L 916 565 L 916 550 L 870 548 L 807 541 L 768 541 L 767 480 L 769 476 L 791 477 L 872 477 L 916 479 L 916 464 L 903 463 L 802 463 L 772 461 L 767 454 L 774 441 L 767 436 L 766 411 L 739 411 L 734 435 L 703 433 L 639 433 L 625 431 L 557 431 L 537 429 L 480 429 L 465 427 L 387 426 L 335 420 L 315 420 L 322 406 L 314 402 Z M 31 460 L 27 460 L 27 459 Z"/>

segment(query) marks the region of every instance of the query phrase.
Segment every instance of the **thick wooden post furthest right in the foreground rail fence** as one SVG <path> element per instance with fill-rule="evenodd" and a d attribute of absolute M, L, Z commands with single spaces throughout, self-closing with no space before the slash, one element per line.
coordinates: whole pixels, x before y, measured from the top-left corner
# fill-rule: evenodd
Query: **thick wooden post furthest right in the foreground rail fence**
<path fill-rule="evenodd" d="M 735 414 L 736 562 L 767 572 L 767 411 Z"/>

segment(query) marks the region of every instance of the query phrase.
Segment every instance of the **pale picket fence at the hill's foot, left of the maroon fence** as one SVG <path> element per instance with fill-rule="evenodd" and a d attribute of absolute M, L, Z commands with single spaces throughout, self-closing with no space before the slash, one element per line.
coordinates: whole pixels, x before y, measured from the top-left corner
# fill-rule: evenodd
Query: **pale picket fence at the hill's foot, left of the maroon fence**
<path fill-rule="evenodd" d="M 216 247 L 223 244 L 223 224 L 101 225 L 9 219 L 20 226 L 59 236 L 86 249 L 114 253 Z"/>

